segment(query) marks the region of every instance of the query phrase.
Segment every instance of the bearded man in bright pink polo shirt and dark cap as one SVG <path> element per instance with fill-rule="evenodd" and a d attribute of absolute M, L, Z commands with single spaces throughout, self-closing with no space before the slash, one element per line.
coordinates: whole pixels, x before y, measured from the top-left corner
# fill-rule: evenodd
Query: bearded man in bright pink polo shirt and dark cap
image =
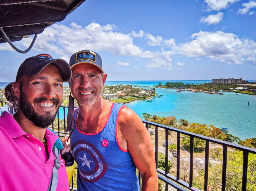
<path fill-rule="evenodd" d="M 60 139 L 47 127 L 53 123 L 71 69 L 62 59 L 40 54 L 18 69 L 14 94 L 17 112 L 0 117 L 0 190 L 68 191 L 59 150 Z M 60 142 L 60 144 L 59 144 Z"/>

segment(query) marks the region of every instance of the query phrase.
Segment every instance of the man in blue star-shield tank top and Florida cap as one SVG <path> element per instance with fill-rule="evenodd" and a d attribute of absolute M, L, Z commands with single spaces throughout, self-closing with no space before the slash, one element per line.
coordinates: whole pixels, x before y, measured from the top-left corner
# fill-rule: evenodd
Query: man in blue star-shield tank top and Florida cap
<path fill-rule="evenodd" d="M 73 54 L 70 89 L 79 107 L 70 136 L 78 165 L 78 191 L 157 191 L 153 144 L 140 117 L 101 97 L 107 74 L 101 57 L 90 50 Z M 69 105 L 72 107 L 72 104 Z M 65 145 L 65 149 L 69 147 Z"/>

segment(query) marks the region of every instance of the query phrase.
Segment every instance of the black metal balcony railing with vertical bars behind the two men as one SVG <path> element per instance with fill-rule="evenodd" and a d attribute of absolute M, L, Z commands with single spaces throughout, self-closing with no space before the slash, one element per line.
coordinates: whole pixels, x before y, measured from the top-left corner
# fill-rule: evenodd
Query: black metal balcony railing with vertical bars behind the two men
<path fill-rule="evenodd" d="M 0 101 L 0 106 L 3 106 L 3 103 L 6 103 L 4 101 Z M 67 106 L 61 106 L 63 108 L 63 119 L 64 119 L 64 131 L 60 131 L 60 119 L 59 119 L 59 112 L 57 113 L 57 128 L 54 127 L 54 123 L 52 124 L 52 129 L 59 135 L 59 137 L 63 137 L 66 133 L 66 109 Z M 242 145 L 237 145 L 234 143 L 213 139 L 210 137 L 202 136 L 199 134 L 187 132 L 181 129 L 176 129 L 173 127 L 168 127 L 165 125 L 157 124 L 154 122 L 149 122 L 142 120 L 143 123 L 146 124 L 146 128 L 149 128 L 149 125 L 155 127 L 155 164 L 156 169 L 158 172 L 158 179 L 162 180 L 165 183 L 165 190 L 168 191 L 168 186 L 174 187 L 177 189 L 177 191 L 185 191 L 185 190 L 191 190 L 191 191 L 200 191 L 198 188 L 193 186 L 193 165 L 194 165 L 194 139 L 202 139 L 205 140 L 205 166 L 204 166 L 204 191 L 208 191 L 208 167 L 209 167 L 209 144 L 210 142 L 216 143 L 218 145 L 222 145 L 223 147 L 223 161 L 222 161 L 222 185 L 221 185 L 221 191 L 226 190 L 226 170 L 227 170 L 227 153 L 228 153 L 228 147 L 234 148 L 236 150 L 243 151 L 243 175 L 242 175 L 242 191 L 246 191 L 247 186 L 247 169 L 248 169 L 248 156 L 249 153 L 256 154 L 256 150 L 244 147 Z M 166 141 L 166 147 L 165 147 L 165 171 L 158 168 L 158 128 L 165 129 L 165 141 Z M 173 131 L 177 133 L 177 167 L 176 167 L 176 177 L 174 175 L 171 175 L 169 173 L 168 169 L 168 131 Z M 67 133 L 69 134 L 69 133 Z M 187 135 L 190 137 L 190 157 L 189 157 L 189 183 L 183 181 L 180 179 L 180 135 Z M 77 169 L 77 168 L 76 168 Z M 139 184 L 141 188 L 141 175 L 138 174 L 139 177 Z M 74 188 L 74 181 L 72 178 L 72 183 L 70 190 L 76 190 Z"/>

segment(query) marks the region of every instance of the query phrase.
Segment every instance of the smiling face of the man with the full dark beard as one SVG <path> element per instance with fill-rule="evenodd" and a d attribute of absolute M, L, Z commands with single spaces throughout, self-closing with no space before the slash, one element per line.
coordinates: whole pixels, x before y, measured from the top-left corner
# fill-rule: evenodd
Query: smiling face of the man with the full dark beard
<path fill-rule="evenodd" d="M 62 96 L 63 80 L 54 64 L 20 80 L 20 109 L 38 127 L 46 128 L 54 121 Z"/>

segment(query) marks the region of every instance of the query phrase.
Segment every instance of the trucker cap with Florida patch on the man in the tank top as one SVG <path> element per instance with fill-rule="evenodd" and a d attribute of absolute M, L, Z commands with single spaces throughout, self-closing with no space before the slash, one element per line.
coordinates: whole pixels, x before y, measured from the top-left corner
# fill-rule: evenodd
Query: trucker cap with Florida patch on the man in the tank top
<path fill-rule="evenodd" d="M 102 60 L 100 55 L 96 52 L 90 50 L 81 50 L 79 52 L 74 53 L 69 60 L 69 66 L 72 69 L 75 65 L 81 63 L 93 64 L 98 67 L 98 69 L 103 72 Z"/>

